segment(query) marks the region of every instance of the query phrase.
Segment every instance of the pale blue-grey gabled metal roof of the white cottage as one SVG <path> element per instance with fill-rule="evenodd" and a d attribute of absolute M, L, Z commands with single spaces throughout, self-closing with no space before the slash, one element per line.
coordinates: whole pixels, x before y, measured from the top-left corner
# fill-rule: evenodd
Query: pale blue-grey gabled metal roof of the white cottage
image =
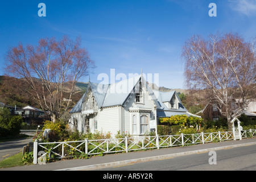
<path fill-rule="evenodd" d="M 143 86 L 146 86 L 147 92 L 156 106 L 157 115 L 159 115 L 159 117 L 170 117 L 176 114 L 191 115 L 181 104 L 176 91 L 160 92 L 158 90 L 152 90 L 150 86 L 146 84 L 146 80 L 142 75 L 128 78 L 127 80 L 122 80 L 114 84 L 96 84 L 89 82 L 88 89 L 69 113 L 82 111 L 82 103 L 85 101 L 90 89 L 92 90 L 98 107 L 123 106 L 129 99 L 130 94 L 134 92 L 139 81 L 143 83 Z M 168 107 L 163 104 L 163 102 L 170 102 L 173 96 L 176 96 L 179 100 L 178 109 L 168 109 Z"/>

